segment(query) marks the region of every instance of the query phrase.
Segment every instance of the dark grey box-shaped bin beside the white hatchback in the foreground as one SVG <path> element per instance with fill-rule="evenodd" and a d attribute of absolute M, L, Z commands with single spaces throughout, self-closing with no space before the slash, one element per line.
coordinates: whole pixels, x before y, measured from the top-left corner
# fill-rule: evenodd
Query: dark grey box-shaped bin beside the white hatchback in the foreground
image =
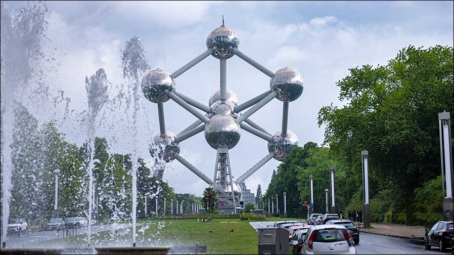
<path fill-rule="evenodd" d="M 289 231 L 280 227 L 257 229 L 258 254 L 289 254 Z"/>

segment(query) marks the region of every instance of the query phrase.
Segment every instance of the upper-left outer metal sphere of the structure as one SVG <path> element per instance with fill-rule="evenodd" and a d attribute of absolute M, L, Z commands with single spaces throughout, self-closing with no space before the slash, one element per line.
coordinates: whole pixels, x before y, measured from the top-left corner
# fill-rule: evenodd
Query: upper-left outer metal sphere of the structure
<path fill-rule="evenodd" d="M 172 75 L 164 69 L 155 69 L 142 79 L 142 92 L 145 98 L 153 103 L 164 103 L 169 100 L 167 92 L 175 90 Z"/>

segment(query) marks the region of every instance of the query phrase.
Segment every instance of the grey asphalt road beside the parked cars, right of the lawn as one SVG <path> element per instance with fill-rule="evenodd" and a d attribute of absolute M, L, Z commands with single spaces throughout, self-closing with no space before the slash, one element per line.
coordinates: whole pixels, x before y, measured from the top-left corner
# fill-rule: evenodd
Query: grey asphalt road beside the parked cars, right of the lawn
<path fill-rule="evenodd" d="M 273 226 L 275 222 L 251 222 L 257 228 Z M 361 234 L 355 246 L 357 254 L 452 254 L 450 249 L 440 252 L 436 248 L 426 250 L 423 244 L 412 242 L 409 238 L 397 238 L 375 234 Z"/>

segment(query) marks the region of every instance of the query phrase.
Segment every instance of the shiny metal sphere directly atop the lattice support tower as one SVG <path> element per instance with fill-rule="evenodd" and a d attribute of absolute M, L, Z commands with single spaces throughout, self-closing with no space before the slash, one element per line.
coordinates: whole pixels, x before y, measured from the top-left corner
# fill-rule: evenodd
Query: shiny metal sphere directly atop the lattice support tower
<path fill-rule="evenodd" d="M 220 146 L 232 149 L 240 141 L 240 137 L 240 125 L 230 115 L 215 115 L 205 126 L 205 140 L 216 150 Z"/>

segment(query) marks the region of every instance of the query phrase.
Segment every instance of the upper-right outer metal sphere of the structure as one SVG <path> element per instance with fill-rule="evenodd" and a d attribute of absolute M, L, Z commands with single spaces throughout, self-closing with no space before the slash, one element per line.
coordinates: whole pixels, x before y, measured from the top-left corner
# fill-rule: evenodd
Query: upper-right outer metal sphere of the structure
<path fill-rule="evenodd" d="M 291 102 L 298 99 L 303 93 L 304 80 L 294 68 L 284 67 L 276 71 L 269 81 L 269 89 L 278 92 L 278 99 Z"/>

